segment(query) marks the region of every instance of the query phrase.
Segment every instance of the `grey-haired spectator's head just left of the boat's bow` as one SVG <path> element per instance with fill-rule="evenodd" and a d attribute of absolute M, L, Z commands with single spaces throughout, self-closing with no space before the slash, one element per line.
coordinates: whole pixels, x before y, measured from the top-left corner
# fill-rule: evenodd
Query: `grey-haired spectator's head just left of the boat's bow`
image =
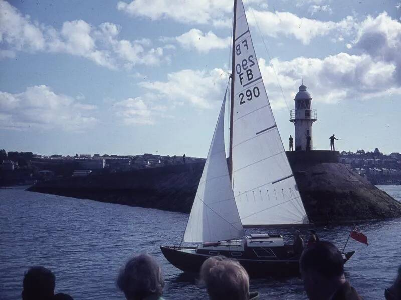
<path fill-rule="evenodd" d="M 124 292 L 127 300 L 140 300 L 146 297 L 161 299 L 164 287 L 161 267 L 149 254 L 132 257 L 120 270 L 117 286 Z"/>

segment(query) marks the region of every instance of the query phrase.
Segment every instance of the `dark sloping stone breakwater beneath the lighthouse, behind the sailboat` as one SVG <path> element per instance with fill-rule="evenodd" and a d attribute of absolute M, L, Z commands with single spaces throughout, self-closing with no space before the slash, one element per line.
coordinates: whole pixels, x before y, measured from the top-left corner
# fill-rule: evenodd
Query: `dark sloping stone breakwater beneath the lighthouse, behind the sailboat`
<path fill-rule="evenodd" d="M 401 203 L 336 162 L 335 153 L 317 153 L 313 157 L 308 153 L 287 154 L 306 212 L 314 223 L 401 217 Z M 56 179 L 29 190 L 189 213 L 203 166 L 201 162 Z"/>

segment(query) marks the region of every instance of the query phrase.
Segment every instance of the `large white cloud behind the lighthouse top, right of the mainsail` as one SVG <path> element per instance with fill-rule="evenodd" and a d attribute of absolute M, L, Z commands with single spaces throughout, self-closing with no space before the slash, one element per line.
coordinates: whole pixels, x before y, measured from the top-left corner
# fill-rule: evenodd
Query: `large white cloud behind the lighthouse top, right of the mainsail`
<path fill-rule="evenodd" d="M 290 61 L 259 60 L 269 99 L 275 108 L 285 107 L 275 72 L 287 103 L 292 103 L 301 78 L 314 101 L 336 103 L 342 100 L 372 99 L 380 95 L 401 94 L 395 65 L 374 61 L 369 55 L 339 53 L 323 59 L 298 57 Z M 389 92 L 391 91 L 391 93 Z"/>

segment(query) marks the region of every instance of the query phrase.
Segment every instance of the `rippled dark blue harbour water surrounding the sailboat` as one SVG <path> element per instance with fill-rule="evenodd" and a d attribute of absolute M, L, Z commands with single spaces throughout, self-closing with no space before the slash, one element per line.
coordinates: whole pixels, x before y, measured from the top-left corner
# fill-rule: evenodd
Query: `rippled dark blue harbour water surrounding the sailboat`
<path fill-rule="evenodd" d="M 401 200 L 401 186 L 380 188 Z M 164 241 L 156 232 L 179 241 L 187 217 L 21 189 L 0 190 L 0 298 L 20 298 L 24 271 L 43 265 L 55 273 L 58 292 L 78 300 L 124 299 L 115 286 L 119 267 L 129 256 L 149 252 L 162 262 L 166 298 L 206 299 L 197 279 L 171 266 L 159 250 Z M 401 264 L 401 220 L 365 223 L 359 228 L 368 236 L 369 246 L 348 243 L 347 250 L 356 253 L 346 264 L 346 275 L 365 299 L 383 298 L 384 287 Z M 349 230 L 350 226 L 317 229 L 321 239 L 334 241 L 339 248 Z M 266 299 L 306 297 L 299 278 L 253 279 L 251 289 Z"/>

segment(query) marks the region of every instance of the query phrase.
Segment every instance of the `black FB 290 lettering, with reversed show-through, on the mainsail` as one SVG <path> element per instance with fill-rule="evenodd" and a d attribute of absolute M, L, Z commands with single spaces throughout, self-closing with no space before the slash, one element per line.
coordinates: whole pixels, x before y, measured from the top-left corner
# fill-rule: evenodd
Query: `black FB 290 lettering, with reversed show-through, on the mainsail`
<path fill-rule="evenodd" d="M 242 45 L 242 47 L 246 48 L 246 50 L 249 49 L 247 39 L 244 39 L 243 41 L 241 41 L 241 43 L 239 43 L 235 47 L 236 56 L 241 55 L 241 45 Z M 251 69 L 251 67 L 253 67 L 254 65 L 255 65 L 255 62 L 254 62 L 253 55 L 249 55 L 248 58 L 244 58 L 241 61 L 241 63 L 236 64 L 235 71 L 238 75 L 238 79 L 240 80 L 241 85 L 243 85 L 243 81 L 244 81 L 244 72 L 246 74 L 246 79 L 248 82 L 250 82 L 254 78 L 254 75 L 253 75 L 252 69 Z M 238 95 L 238 97 L 240 99 L 240 105 L 245 103 L 244 96 L 246 96 L 248 101 L 251 101 L 253 97 L 257 98 L 257 97 L 259 97 L 259 95 L 260 95 L 260 92 L 259 92 L 259 88 L 257 86 L 255 86 L 253 89 L 247 89 L 245 92 L 241 92 Z"/>

